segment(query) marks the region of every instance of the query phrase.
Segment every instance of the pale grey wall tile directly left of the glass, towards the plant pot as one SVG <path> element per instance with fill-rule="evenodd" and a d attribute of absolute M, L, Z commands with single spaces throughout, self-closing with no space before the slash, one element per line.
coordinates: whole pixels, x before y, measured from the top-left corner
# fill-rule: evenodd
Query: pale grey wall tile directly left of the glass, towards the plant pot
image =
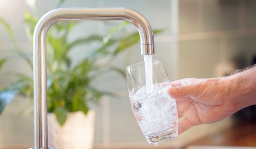
<path fill-rule="evenodd" d="M 111 143 L 146 142 L 132 112 L 128 92 L 122 93 L 121 98 L 110 99 Z"/>

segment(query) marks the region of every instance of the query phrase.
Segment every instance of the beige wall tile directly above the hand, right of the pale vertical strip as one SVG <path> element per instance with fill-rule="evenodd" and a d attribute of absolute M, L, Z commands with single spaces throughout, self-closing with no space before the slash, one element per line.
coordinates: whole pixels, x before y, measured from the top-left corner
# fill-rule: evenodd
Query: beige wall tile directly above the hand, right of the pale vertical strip
<path fill-rule="evenodd" d="M 215 65 L 219 60 L 219 41 L 192 40 L 179 43 L 179 78 L 215 77 Z"/>

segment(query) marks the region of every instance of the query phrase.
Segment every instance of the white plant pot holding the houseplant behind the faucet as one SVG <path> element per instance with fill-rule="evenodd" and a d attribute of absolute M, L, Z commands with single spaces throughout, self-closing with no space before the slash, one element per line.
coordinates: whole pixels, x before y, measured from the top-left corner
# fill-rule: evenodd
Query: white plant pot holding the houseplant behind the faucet
<path fill-rule="evenodd" d="M 87 115 L 70 112 L 61 127 L 53 113 L 48 113 L 48 146 L 54 149 L 92 149 L 95 111 Z"/>

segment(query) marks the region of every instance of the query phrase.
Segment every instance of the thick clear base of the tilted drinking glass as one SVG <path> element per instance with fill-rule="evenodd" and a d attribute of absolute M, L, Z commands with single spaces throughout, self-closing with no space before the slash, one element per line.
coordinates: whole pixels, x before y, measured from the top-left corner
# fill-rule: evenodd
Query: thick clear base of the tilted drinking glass
<path fill-rule="evenodd" d="M 178 126 L 174 126 L 171 129 L 165 130 L 161 133 L 146 135 L 146 139 L 150 144 L 156 144 L 159 142 L 167 141 L 178 136 Z"/>

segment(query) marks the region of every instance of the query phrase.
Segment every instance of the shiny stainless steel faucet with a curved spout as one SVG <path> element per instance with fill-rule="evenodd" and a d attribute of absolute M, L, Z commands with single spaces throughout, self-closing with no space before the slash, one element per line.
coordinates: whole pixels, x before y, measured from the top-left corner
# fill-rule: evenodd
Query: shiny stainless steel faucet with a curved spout
<path fill-rule="evenodd" d="M 146 18 L 127 8 L 59 8 L 49 11 L 38 21 L 34 31 L 34 142 L 31 149 L 48 148 L 47 138 L 47 50 L 49 28 L 60 21 L 125 20 L 140 33 L 142 55 L 154 54 L 154 37 Z"/>

